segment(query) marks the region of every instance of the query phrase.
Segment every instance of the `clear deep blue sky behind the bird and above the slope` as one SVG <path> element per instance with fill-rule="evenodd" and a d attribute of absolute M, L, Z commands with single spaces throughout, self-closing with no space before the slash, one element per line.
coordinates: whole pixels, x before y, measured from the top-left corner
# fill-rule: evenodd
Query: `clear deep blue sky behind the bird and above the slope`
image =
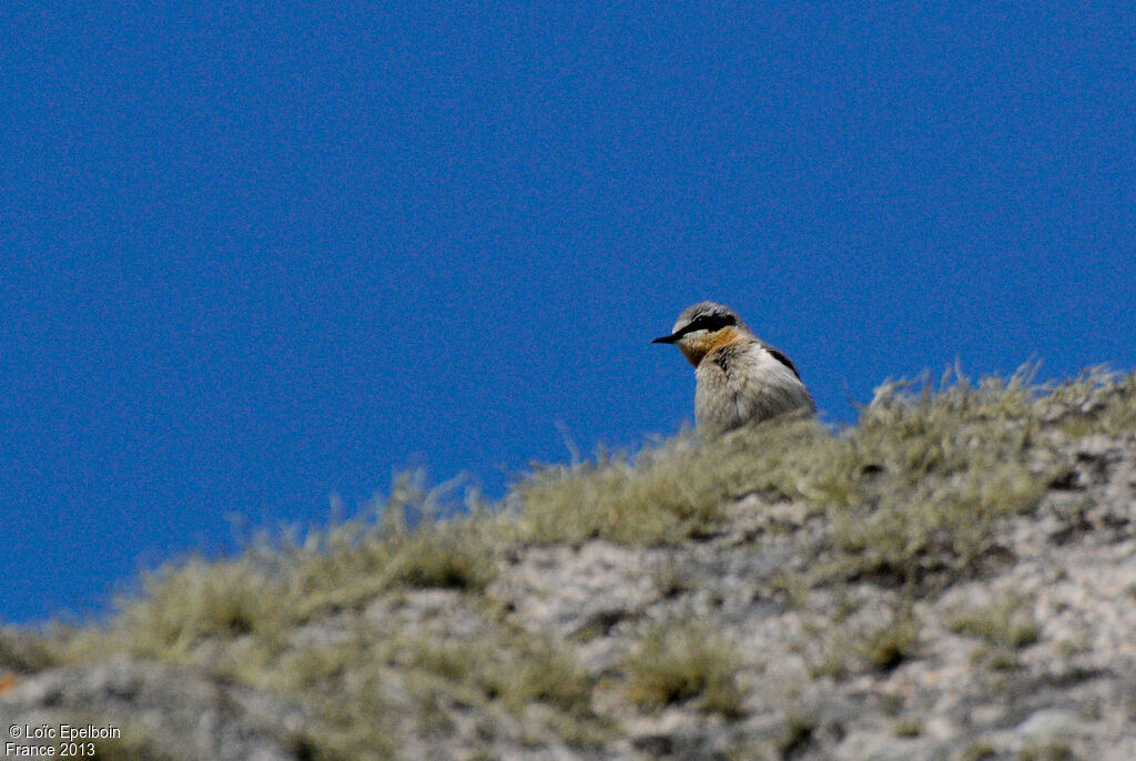
<path fill-rule="evenodd" d="M 7 3 L 0 620 L 674 432 L 701 299 L 832 421 L 1131 368 L 1120 5 Z"/>

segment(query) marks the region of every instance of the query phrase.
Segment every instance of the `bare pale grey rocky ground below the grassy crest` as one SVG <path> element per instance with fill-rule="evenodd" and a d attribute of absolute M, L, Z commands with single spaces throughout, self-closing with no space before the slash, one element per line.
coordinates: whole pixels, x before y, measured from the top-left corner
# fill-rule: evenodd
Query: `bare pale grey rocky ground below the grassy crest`
<path fill-rule="evenodd" d="M 802 582 L 824 562 L 825 515 L 753 493 L 676 546 L 512 544 L 477 594 L 382 593 L 289 646 L 421 638 L 476 658 L 502 627 L 551 643 L 519 678 L 553 683 L 556 710 L 540 691 L 510 705 L 498 687 L 438 687 L 424 716 L 415 695 L 434 687 L 411 681 L 398 649 L 376 655 L 383 705 L 358 716 L 389 743 L 356 758 L 1131 761 L 1136 437 L 1063 446 L 1070 468 L 1036 510 L 1001 520 L 979 571 Z M 339 758 L 294 691 L 137 654 L 57 666 L 11 629 L 0 647 L 9 755 L 44 744 L 11 726 L 91 724 L 123 735 L 93 741 L 102 759 Z M 467 679 L 470 666 L 451 666 Z"/>

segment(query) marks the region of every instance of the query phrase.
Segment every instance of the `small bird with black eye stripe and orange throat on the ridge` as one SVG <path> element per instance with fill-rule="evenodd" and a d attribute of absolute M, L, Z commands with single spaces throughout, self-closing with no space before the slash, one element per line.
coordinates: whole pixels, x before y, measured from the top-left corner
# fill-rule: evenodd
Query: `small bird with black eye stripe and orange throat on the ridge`
<path fill-rule="evenodd" d="M 817 409 L 793 361 L 722 304 L 702 301 L 684 309 L 670 335 L 651 343 L 675 344 L 694 366 L 694 419 L 703 436 Z"/>

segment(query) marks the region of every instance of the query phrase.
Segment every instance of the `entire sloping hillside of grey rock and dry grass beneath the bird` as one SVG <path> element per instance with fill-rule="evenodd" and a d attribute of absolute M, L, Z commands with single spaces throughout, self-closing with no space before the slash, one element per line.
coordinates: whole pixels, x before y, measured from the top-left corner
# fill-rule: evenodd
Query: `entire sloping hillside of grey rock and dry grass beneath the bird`
<path fill-rule="evenodd" d="M 1136 759 L 1136 375 L 888 384 L 408 528 L 443 491 L 5 629 L 9 755 Z"/>

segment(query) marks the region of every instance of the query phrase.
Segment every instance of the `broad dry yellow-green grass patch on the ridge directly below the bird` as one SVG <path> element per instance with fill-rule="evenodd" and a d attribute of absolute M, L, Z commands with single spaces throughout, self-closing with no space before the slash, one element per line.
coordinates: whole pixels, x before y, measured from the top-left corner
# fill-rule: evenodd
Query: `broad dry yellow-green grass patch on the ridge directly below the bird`
<path fill-rule="evenodd" d="M 825 513 L 818 577 L 938 584 L 996 560 L 999 520 L 1031 510 L 1076 432 L 1136 428 L 1136 375 L 1102 369 L 1033 384 L 1033 367 L 977 384 L 957 368 L 936 388 L 888 382 L 854 427 L 787 416 L 700 442 L 691 433 L 634 457 L 538 466 L 507 504 L 515 538 L 668 544 L 720 530 L 732 497 L 765 492 Z"/>

